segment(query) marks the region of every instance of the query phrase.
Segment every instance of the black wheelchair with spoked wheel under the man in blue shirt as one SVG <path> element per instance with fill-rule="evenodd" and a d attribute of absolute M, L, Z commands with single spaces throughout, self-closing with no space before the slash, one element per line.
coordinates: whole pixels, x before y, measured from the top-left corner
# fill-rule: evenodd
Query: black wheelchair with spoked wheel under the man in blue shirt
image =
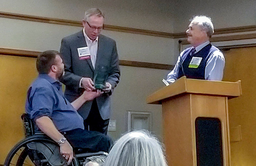
<path fill-rule="evenodd" d="M 21 140 L 8 153 L 4 166 L 67 166 L 67 160 L 59 152 L 59 145 L 43 133 L 34 133 L 34 123 L 27 114 L 23 120 L 25 139 Z M 82 166 L 86 157 L 108 155 L 99 152 L 81 152 L 74 149 L 72 166 Z"/>

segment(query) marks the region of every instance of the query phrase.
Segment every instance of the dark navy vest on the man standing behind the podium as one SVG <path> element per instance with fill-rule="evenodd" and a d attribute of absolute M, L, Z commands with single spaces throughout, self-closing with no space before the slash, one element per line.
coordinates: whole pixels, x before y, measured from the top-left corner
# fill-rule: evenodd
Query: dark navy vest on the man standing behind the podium
<path fill-rule="evenodd" d="M 217 49 L 215 47 L 213 47 L 211 44 L 208 44 L 207 46 L 205 46 L 204 48 L 199 50 L 197 53 L 195 53 L 194 55 L 190 55 L 190 52 L 192 49 L 193 48 L 188 48 L 184 51 L 182 58 L 181 58 L 184 74 L 182 72 L 181 65 L 179 65 L 177 79 L 179 79 L 180 77 L 185 75 L 187 78 L 190 78 L 190 79 L 205 80 L 206 63 L 207 63 L 210 55 Z M 201 57 L 202 58 L 201 63 L 199 64 L 199 66 L 197 68 L 189 68 L 188 67 L 193 57 Z"/>

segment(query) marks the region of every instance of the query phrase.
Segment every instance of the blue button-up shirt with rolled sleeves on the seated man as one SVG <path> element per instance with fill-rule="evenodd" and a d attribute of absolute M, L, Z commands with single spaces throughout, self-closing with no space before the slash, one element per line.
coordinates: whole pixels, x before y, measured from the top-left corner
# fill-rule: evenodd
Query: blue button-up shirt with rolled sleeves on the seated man
<path fill-rule="evenodd" d="M 39 74 L 30 86 L 26 113 L 34 121 L 41 116 L 49 116 L 60 132 L 84 129 L 82 117 L 65 99 L 59 81 L 47 74 Z"/>

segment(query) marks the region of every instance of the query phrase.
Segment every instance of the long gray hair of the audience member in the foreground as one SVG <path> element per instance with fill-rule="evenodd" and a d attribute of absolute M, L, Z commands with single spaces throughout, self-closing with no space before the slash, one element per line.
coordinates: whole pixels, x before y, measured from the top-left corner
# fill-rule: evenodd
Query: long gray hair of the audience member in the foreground
<path fill-rule="evenodd" d="M 167 166 L 167 163 L 156 137 L 134 131 L 118 139 L 103 166 Z"/>

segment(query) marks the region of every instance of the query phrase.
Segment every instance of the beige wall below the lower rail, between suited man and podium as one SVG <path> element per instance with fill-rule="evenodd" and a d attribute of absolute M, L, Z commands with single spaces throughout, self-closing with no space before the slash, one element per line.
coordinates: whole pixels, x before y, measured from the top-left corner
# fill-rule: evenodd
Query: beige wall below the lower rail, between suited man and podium
<path fill-rule="evenodd" d="M 117 120 L 118 131 L 109 132 L 118 138 L 127 129 L 127 111 L 152 112 L 152 131 L 162 140 L 162 107 L 146 104 L 146 97 L 165 85 L 161 82 L 166 70 L 121 66 L 121 79 L 113 95 L 111 119 Z"/>

